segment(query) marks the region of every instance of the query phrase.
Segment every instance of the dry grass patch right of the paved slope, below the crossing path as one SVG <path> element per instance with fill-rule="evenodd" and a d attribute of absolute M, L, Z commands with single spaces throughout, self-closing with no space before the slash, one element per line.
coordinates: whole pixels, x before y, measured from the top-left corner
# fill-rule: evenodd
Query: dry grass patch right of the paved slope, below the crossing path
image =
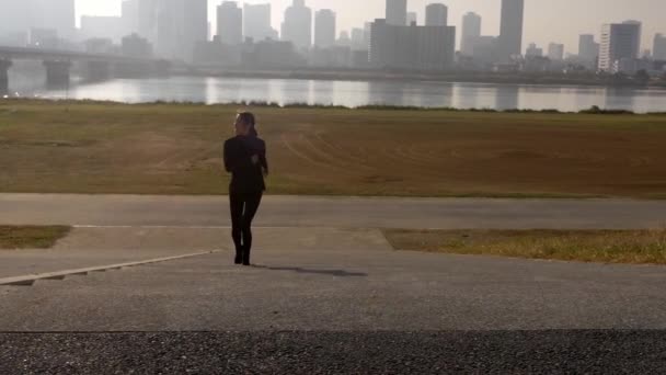
<path fill-rule="evenodd" d="M 666 230 L 387 230 L 397 250 L 666 264 Z"/>

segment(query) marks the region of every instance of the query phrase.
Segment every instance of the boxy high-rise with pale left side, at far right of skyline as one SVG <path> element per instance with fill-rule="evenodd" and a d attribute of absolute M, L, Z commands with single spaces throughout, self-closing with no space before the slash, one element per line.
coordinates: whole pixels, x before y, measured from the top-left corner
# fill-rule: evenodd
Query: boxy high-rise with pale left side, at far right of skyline
<path fill-rule="evenodd" d="M 601 27 L 599 70 L 612 71 L 622 59 L 635 59 L 641 49 L 641 23 L 605 24 Z"/>

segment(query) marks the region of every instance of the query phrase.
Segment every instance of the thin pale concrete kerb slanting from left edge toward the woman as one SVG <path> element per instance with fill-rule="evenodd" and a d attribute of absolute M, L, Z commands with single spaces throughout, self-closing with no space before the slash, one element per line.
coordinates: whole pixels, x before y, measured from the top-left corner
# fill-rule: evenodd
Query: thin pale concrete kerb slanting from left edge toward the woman
<path fill-rule="evenodd" d="M 74 269 L 74 270 L 65 270 L 65 271 L 47 272 L 47 273 L 41 273 L 41 274 L 7 277 L 7 279 L 0 279 L 0 286 L 32 286 L 35 282 L 37 282 L 39 280 L 65 280 L 67 276 L 87 275 L 91 272 L 104 272 L 104 271 L 119 270 L 119 269 L 131 268 L 131 266 L 162 263 L 162 262 L 169 262 L 169 261 L 181 260 L 181 259 L 186 259 L 186 258 L 208 255 L 208 254 L 213 254 L 213 253 L 217 253 L 217 252 L 220 252 L 220 250 L 202 251 L 202 252 L 195 252 L 195 253 L 176 255 L 176 257 L 148 259 L 148 260 L 138 261 L 138 262 L 107 264 L 107 265 L 92 266 L 92 268 L 85 268 L 85 269 Z"/>

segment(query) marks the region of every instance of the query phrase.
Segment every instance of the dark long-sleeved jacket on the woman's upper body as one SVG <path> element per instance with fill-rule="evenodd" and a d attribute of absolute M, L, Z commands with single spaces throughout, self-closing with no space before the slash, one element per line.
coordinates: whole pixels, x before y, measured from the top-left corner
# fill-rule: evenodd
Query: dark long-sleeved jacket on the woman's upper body
<path fill-rule="evenodd" d="M 259 138 L 257 138 L 259 139 Z M 265 144 L 263 158 L 265 159 Z M 252 156 L 262 156 L 249 143 L 246 137 L 237 136 L 225 143 L 225 169 L 231 173 L 229 192 L 237 193 L 261 193 L 266 190 L 262 162 L 253 163 Z M 267 162 L 266 162 L 267 168 Z"/>

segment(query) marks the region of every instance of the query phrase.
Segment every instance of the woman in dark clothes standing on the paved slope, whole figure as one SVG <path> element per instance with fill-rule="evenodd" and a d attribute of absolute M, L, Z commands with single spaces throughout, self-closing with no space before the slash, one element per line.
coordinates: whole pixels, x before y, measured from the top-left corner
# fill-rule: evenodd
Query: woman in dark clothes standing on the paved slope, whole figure
<path fill-rule="evenodd" d="M 231 237 L 236 246 L 236 264 L 250 265 L 252 220 L 256 215 L 268 173 L 266 144 L 259 138 L 252 113 L 236 117 L 236 137 L 225 143 L 225 168 L 231 173 L 229 206 Z"/>

